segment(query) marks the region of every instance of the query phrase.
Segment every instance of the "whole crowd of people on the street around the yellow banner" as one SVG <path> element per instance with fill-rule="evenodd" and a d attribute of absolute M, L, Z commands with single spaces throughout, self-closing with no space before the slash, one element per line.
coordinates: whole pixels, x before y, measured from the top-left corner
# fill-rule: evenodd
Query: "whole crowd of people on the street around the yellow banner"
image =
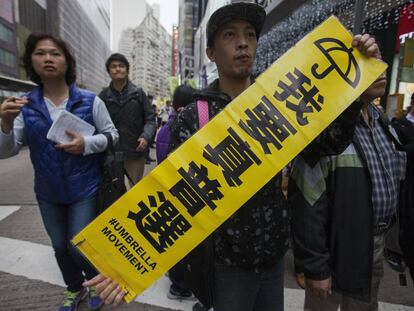
<path fill-rule="evenodd" d="M 177 87 L 158 108 L 129 79 L 129 62 L 112 54 L 111 82 L 99 95 L 76 86 L 76 62 L 67 44 L 31 34 L 23 56 L 38 84 L 0 106 L 0 158 L 24 143 L 35 171 L 35 193 L 44 226 L 66 283 L 59 311 L 118 305 L 125 292 L 86 262 L 70 240 L 98 213 L 100 165 L 108 135 L 123 154 L 129 187 L 144 175 L 150 147 L 158 163 L 254 83 L 253 60 L 266 13 L 254 3 L 223 6 L 206 28 L 208 58 L 218 79 L 206 89 Z M 352 46 L 381 59 L 375 39 L 355 35 Z M 195 299 L 193 310 L 284 310 L 284 257 L 292 246 L 305 288 L 304 310 L 378 310 L 383 249 L 398 226 L 401 250 L 414 273 L 414 95 L 406 117 L 390 122 L 374 104 L 385 92 L 382 74 L 283 172 L 257 191 L 227 221 L 169 271 L 171 299 Z M 297 94 L 300 96 L 300 94 Z M 94 128 L 66 131 L 49 140 L 63 111 Z M 158 134 L 157 134 L 158 132 Z M 299 280 L 299 278 L 298 278 Z"/>

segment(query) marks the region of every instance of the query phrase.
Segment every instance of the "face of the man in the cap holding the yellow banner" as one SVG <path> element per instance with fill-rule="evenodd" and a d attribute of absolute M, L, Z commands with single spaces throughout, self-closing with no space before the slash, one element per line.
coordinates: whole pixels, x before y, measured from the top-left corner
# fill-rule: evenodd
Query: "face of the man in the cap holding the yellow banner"
<path fill-rule="evenodd" d="M 257 39 L 254 27 L 235 20 L 221 27 L 214 37 L 214 47 L 206 52 L 215 62 L 221 78 L 244 79 L 252 73 Z"/>

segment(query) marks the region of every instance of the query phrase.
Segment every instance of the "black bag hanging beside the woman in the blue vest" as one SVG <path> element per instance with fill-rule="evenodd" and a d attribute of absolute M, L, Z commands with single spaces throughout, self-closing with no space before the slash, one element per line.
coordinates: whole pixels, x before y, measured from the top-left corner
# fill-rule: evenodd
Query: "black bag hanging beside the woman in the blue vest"
<path fill-rule="evenodd" d="M 103 154 L 103 172 L 98 189 L 98 213 L 102 213 L 125 192 L 124 157 L 119 146 L 115 145 L 111 134 L 103 133 L 108 147 Z"/>

